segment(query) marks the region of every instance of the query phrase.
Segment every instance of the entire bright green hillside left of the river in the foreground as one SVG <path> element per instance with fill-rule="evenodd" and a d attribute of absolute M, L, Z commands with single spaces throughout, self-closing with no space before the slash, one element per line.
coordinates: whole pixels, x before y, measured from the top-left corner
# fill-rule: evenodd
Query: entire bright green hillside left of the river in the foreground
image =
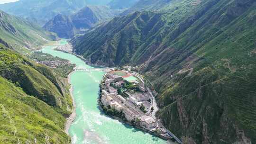
<path fill-rule="evenodd" d="M 0 45 L 0 143 L 71 143 L 64 132 L 73 107 L 66 83 Z"/>

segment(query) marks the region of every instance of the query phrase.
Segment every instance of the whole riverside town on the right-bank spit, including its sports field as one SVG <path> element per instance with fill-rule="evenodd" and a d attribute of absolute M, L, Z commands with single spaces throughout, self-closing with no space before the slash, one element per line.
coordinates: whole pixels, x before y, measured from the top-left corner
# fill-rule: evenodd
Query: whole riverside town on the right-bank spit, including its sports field
<path fill-rule="evenodd" d="M 174 139 L 155 117 L 154 96 L 135 72 L 124 70 L 106 73 L 101 82 L 100 104 L 107 114 L 160 136 Z"/>

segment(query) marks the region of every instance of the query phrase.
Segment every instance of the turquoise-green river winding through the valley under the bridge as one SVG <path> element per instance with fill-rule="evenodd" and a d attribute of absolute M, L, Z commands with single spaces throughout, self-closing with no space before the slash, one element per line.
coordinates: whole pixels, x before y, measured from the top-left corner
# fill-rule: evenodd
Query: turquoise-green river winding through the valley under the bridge
<path fill-rule="evenodd" d="M 66 44 L 61 41 L 58 45 Z M 73 54 L 45 46 L 43 53 L 69 60 L 78 68 L 93 68 Z M 167 144 L 166 141 L 112 119 L 98 108 L 99 84 L 104 72 L 73 72 L 71 85 L 76 104 L 76 118 L 69 128 L 72 144 Z"/>

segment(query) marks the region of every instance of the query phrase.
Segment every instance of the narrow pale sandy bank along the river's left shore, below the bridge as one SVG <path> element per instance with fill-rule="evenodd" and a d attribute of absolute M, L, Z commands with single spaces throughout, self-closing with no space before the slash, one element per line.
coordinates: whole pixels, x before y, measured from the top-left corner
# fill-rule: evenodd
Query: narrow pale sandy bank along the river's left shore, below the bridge
<path fill-rule="evenodd" d="M 76 66 L 75 66 L 76 68 Z M 75 69 L 74 68 L 74 69 Z M 71 75 L 73 74 L 74 71 L 72 71 L 71 73 L 69 73 L 68 75 L 68 83 L 71 85 Z M 71 124 L 73 123 L 73 121 L 75 120 L 75 116 L 76 116 L 76 113 L 75 113 L 75 101 L 74 101 L 74 96 L 73 96 L 73 86 L 71 85 L 70 89 L 70 95 L 71 95 L 71 98 L 72 98 L 72 101 L 73 101 L 73 110 L 72 110 L 72 114 L 66 119 L 66 123 L 65 123 L 65 133 L 69 135 L 68 133 L 68 129 L 69 127 L 71 126 Z"/>

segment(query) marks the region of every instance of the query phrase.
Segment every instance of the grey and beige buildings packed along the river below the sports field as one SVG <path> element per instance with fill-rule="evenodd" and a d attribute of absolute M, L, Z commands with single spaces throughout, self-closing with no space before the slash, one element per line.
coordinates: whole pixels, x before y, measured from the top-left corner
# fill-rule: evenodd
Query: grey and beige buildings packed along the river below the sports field
<path fill-rule="evenodd" d="M 108 73 L 103 79 L 101 87 L 101 103 L 106 108 L 112 108 L 124 114 L 129 122 L 136 122 L 137 125 L 152 130 L 156 127 L 156 120 L 150 114 L 152 107 L 151 97 L 145 88 L 130 93 L 129 91 L 118 94 L 118 88 L 122 87 L 125 80 L 121 76 Z M 141 106 L 145 110 L 141 110 Z"/>

